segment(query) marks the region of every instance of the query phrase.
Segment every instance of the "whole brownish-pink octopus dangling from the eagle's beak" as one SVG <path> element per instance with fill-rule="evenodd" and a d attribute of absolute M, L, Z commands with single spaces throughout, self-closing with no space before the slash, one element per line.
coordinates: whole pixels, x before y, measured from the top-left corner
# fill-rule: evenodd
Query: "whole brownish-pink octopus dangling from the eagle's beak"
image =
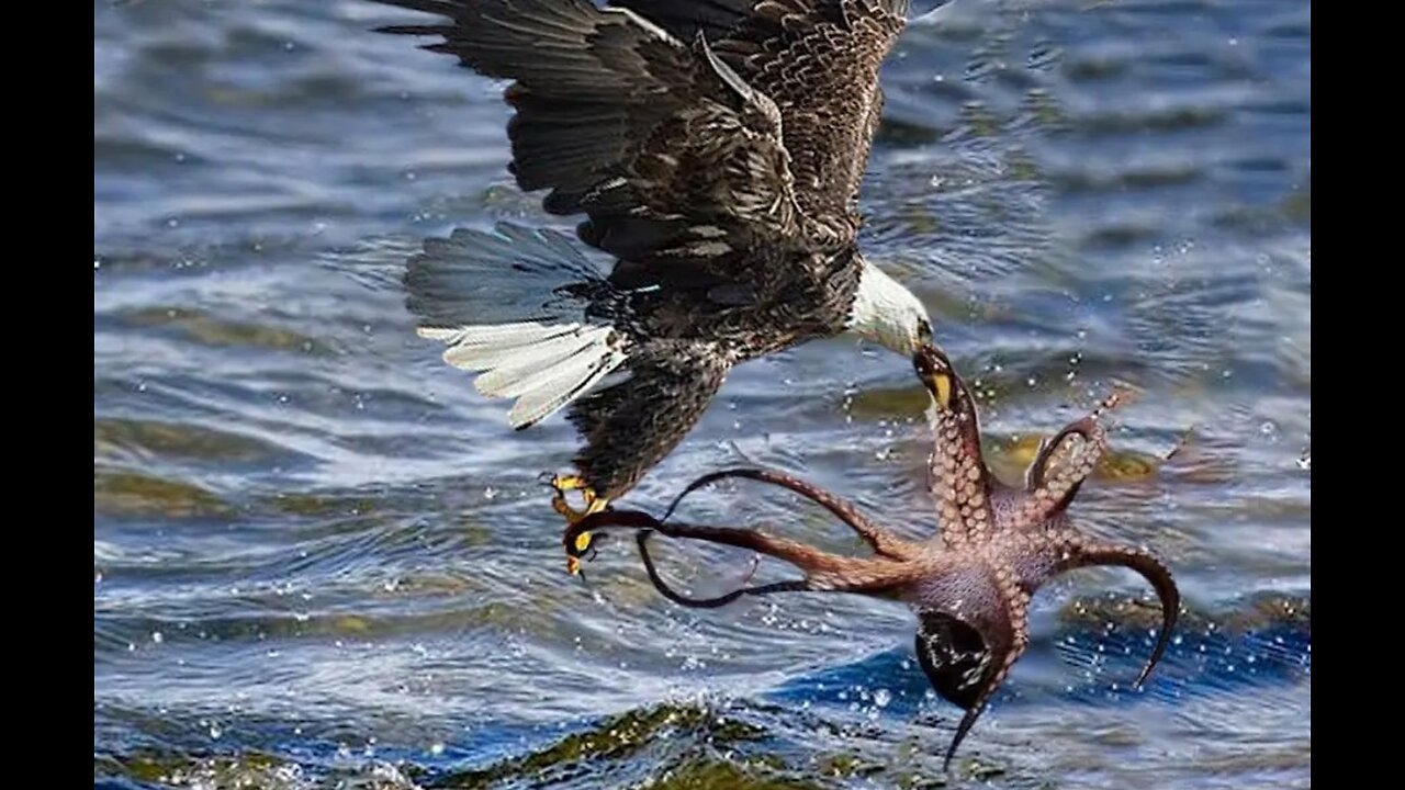
<path fill-rule="evenodd" d="M 684 606 L 721 606 L 743 595 L 774 592 L 851 592 L 906 602 L 917 616 L 916 652 L 933 689 L 961 706 L 946 762 L 975 724 L 991 694 L 1028 645 L 1028 603 L 1052 576 L 1073 568 L 1118 565 L 1141 574 L 1162 606 L 1162 628 L 1139 686 L 1161 659 L 1176 626 L 1180 593 L 1170 571 L 1151 552 L 1087 536 L 1068 523 L 1065 510 L 1106 448 L 1100 419 L 1116 405 L 1109 398 L 1092 415 L 1069 425 L 1041 447 L 1023 489 L 1003 485 L 981 458 L 975 402 L 947 358 L 922 349 L 915 364 L 932 394 L 934 450 L 929 482 L 940 533 L 913 543 L 868 522 L 851 505 L 788 475 L 729 470 L 693 482 L 662 519 L 636 510 L 597 513 L 568 530 L 635 527 L 649 579 L 669 600 Z M 708 482 L 742 477 L 795 491 L 829 509 L 873 548 L 870 557 L 842 557 L 756 530 L 667 523 L 679 502 Z M 802 579 L 742 588 L 714 599 L 691 599 L 658 574 L 648 537 L 736 545 L 776 557 L 804 571 Z"/>

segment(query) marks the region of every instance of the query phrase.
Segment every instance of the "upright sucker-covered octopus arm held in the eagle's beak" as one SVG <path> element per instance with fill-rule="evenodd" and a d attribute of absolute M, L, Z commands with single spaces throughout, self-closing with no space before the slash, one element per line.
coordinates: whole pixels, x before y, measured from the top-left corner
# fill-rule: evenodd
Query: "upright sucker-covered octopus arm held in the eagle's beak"
<path fill-rule="evenodd" d="M 932 395 L 933 450 L 927 485 L 937 503 L 941 536 L 953 547 L 979 543 L 995 530 L 991 472 L 981 455 L 975 399 L 936 346 L 913 356 L 917 377 Z"/>

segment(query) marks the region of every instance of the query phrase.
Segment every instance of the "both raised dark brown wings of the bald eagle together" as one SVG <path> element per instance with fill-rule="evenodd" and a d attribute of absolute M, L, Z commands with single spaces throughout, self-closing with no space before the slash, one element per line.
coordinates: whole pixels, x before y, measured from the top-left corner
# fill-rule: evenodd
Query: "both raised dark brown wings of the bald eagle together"
<path fill-rule="evenodd" d="M 518 186 L 586 214 L 580 238 L 628 280 L 754 283 L 853 243 L 906 0 L 382 1 L 450 20 L 388 31 L 514 80 Z"/>

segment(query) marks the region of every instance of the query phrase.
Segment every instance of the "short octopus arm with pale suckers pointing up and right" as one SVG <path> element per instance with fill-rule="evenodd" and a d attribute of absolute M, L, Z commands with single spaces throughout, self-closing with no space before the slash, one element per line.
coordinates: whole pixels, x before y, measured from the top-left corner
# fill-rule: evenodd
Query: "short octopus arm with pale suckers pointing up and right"
<path fill-rule="evenodd" d="M 1087 475 L 1107 450 L 1107 433 L 1099 422 L 1117 408 L 1120 395 L 1109 395 L 1092 413 L 1071 423 L 1040 446 L 1024 475 L 1028 498 L 1016 514 L 1013 529 L 1040 527 L 1069 506 Z"/>

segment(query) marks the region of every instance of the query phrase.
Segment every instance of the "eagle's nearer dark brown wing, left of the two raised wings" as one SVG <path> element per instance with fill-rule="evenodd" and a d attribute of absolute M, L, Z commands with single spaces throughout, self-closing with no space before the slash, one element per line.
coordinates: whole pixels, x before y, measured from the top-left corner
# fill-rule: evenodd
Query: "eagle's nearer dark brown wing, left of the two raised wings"
<path fill-rule="evenodd" d="M 704 38 L 589 0 L 384 1 L 451 20 L 388 31 L 514 80 L 511 171 L 589 215 L 587 243 L 634 263 L 802 246 L 776 104 Z"/>

